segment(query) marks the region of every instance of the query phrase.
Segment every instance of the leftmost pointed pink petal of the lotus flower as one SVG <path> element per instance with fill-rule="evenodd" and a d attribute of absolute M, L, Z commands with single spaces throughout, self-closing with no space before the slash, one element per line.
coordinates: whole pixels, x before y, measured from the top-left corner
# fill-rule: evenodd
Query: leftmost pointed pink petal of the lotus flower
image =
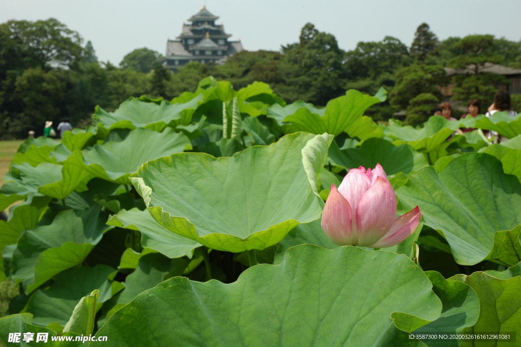
<path fill-rule="evenodd" d="M 322 229 L 331 240 L 341 246 L 351 246 L 351 206 L 333 184 L 322 213 Z"/>

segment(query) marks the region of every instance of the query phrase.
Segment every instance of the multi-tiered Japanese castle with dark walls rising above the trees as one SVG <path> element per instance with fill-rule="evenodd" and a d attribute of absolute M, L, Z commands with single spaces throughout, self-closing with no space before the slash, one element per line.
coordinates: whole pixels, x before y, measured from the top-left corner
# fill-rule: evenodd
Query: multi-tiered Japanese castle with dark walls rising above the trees
<path fill-rule="evenodd" d="M 240 40 L 228 41 L 231 34 L 225 32 L 222 24 L 215 24 L 218 18 L 205 6 L 189 19 L 190 23 L 183 23 L 178 40 L 167 41 L 163 66 L 175 71 L 195 61 L 224 64 L 228 57 L 243 51 Z"/>

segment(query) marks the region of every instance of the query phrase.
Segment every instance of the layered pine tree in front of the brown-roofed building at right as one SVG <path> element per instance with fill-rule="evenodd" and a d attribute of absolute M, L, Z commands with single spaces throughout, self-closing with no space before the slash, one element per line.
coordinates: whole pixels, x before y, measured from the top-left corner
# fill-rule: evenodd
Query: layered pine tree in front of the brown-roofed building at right
<path fill-rule="evenodd" d="M 469 35 L 455 44 L 465 53 L 449 61 L 449 66 L 458 69 L 454 75 L 453 100 L 480 99 L 484 104 L 493 100 L 497 88 L 510 81 L 499 74 L 483 71 L 488 64 L 498 64 L 503 56 L 491 52 L 493 35 Z"/>

